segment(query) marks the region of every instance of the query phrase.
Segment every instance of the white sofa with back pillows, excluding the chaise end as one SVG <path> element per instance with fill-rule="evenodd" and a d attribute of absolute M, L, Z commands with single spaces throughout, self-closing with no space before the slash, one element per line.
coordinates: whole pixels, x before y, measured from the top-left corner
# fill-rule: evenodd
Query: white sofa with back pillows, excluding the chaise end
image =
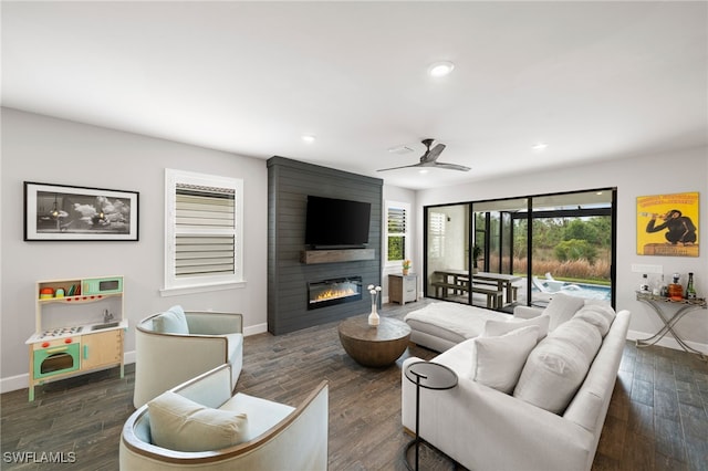
<path fill-rule="evenodd" d="M 431 360 L 451 368 L 458 385 L 420 389 L 424 440 L 473 470 L 591 469 L 631 314 L 615 315 L 608 306 L 570 296 L 558 300 L 545 312 L 519 310 L 517 317 L 548 317 L 549 333 L 540 342 L 538 322 L 517 318 L 500 328 L 492 320 L 479 337 Z M 402 375 L 402 420 L 408 431 L 415 431 L 416 386 L 405 370 L 414 362 L 420 359 L 404 362 Z"/>

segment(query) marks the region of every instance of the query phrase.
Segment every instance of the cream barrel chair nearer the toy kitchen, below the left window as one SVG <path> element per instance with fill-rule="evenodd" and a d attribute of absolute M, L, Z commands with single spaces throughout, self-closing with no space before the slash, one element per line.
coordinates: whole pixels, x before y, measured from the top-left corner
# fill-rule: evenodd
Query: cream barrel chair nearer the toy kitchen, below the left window
<path fill-rule="evenodd" d="M 175 313 L 183 324 L 186 318 L 184 328 L 158 323 L 164 314 Z M 135 326 L 135 408 L 225 363 L 231 365 L 236 386 L 243 366 L 242 326 L 241 314 L 185 312 L 179 306 L 140 321 Z M 164 332 L 170 328 L 178 333 Z"/>

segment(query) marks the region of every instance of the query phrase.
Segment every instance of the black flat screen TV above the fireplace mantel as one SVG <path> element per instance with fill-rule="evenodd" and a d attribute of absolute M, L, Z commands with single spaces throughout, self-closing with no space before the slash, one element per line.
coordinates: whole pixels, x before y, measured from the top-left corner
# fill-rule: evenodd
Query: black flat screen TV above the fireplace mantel
<path fill-rule="evenodd" d="M 362 247 L 368 243 L 368 202 L 308 196 L 305 243 L 312 247 Z"/>

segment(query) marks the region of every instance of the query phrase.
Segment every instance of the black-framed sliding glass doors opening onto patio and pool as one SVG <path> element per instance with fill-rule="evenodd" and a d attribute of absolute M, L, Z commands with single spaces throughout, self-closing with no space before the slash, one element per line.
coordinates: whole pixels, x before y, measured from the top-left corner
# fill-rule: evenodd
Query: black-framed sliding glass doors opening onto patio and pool
<path fill-rule="evenodd" d="M 554 293 L 614 305 L 615 189 L 425 208 L 426 296 L 513 312 Z"/>

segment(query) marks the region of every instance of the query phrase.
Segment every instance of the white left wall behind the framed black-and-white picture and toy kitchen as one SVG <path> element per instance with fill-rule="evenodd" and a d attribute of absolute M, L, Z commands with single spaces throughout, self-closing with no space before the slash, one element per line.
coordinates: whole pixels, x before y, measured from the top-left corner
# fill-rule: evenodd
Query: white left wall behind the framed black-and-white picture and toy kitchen
<path fill-rule="evenodd" d="M 163 297 L 165 168 L 242 178 L 246 287 Z M 266 161 L 2 108 L 0 390 L 27 387 L 38 280 L 125 275 L 126 359 L 135 324 L 173 304 L 243 314 L 246 333 L 266 332 Z M 138 242 L 24 242 L 23 181 L 139 192 Z"/>

